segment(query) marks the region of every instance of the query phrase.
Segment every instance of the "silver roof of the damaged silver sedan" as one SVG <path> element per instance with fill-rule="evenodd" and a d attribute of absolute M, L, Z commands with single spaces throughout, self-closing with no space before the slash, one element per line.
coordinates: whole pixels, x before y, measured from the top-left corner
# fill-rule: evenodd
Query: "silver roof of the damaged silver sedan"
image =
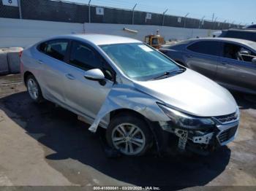
<path fill-rule="evenodd" d="M 114 35 L 108 35 L 108 34 L 68 34 L 68 35 L 56 36 L 56 38 L 72 38 L 72 39 L 86 40 L 96 45 L 140 42 L 137 39 L 131 39 L 124 36 L 114 36 Z"/>

